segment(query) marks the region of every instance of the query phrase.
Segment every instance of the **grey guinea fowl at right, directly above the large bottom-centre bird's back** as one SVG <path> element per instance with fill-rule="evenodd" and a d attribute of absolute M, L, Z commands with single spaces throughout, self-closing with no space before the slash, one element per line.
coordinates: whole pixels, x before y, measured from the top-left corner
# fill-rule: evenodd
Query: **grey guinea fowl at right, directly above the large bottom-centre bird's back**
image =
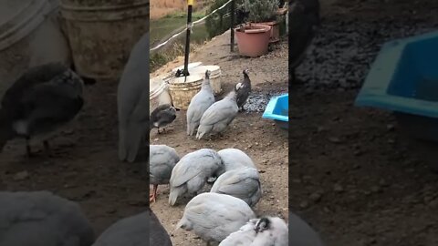
<path fill-rule="evenodd" d="M 233 196 L 254 207 L 262 197 L 258 171 L 247 167 L 225 171 L 216 179 L 210 192 Z"/>

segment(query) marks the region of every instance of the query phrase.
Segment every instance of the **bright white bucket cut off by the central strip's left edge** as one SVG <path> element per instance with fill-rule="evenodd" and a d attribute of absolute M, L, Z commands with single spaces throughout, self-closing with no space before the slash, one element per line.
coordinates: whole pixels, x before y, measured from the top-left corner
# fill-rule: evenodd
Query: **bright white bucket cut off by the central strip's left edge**
<path fill-rule="evenodd" d="M 172 97 L 169 94 L 168 85 L 164 82 L 162 77 L 151 78 L 149 80 L 149 86 L 149 113 L 162 104 L 172 105 Z"/>

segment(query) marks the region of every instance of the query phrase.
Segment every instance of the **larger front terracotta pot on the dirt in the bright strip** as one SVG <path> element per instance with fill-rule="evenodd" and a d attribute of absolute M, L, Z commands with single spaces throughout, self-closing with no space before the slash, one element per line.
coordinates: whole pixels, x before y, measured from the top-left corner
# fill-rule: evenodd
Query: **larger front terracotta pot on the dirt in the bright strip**
<path fill-rule="evenodd" d="M 235 28 L 237 47 L 242 56 L 262 56 L 267 53 L 271 26 L 250 24 L 245 26 L 245 31 Z"/>

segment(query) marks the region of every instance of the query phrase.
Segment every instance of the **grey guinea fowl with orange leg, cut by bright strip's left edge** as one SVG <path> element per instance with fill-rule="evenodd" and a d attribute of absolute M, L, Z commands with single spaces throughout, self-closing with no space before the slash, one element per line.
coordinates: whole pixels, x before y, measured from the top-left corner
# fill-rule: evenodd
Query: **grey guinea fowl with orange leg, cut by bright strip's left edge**
<path fill-rule="evenodd" d="M 166 145 L 151 145 L 149 152 L 149 183 L 153 185 L 150 201 L 155 201 L 158 185 L 169 183 L 172 169 L 180 157 L 175 149 Z"/>

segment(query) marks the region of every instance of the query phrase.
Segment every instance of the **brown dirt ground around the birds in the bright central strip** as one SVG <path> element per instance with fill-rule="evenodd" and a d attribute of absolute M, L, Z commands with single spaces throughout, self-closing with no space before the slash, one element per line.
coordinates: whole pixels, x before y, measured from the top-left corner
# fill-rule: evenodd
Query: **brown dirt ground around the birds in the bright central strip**
<path fill-rule="evenodd" d="M 250 69 L 250 78 L 254 95 L 287 92 L 287 40 L 274 46 L 273 51 L 261 58 L 243 58 L 230 54 L 229 33 L 217 36 L 210 43 L 191 56 L 191 62 L 202 61 L 204 65 L 219 65 L 222 70 L 223 97 L 236 83 L 243 79 L 242 71 Z M 155 75 L 169 71 L 170 68 L 182 65 L 181 57 L 175 62 L 162 67 Z M 218 98 L 220 98 L 218 97 Z M 254 99 L 253 99 L 254 98 Z M 262 104 L 261 107 L 250 107 L 251 112 L 239 114 L 220 140 L 195 140 L 186 135 L 185 111 L 180 111 L 168 134 L 151 132 L 151 144 L 166 144 L 175 148 L 183 156 L 197 149 L 236 148 L 245 151 L 255 161 L 260 171 L 263 196 L 255 206 L 257 215 L 280 216 L 287 220 L 287 131 L 279 130 L 273 121 L 261 118 L 263 112 L 254 112 L 265 108 L 266 101 L 252 97 L 251 103 Z M 207 191 L 210 189 L 207 186 Z M 168 204 L 169 189 L 159 186 L 159 198 L 151 204 L 151 210 L 167 231 L 172 232 L 174 226 L 183 216 L 186 200 L 183 204 L 171 207 Z M 179 230 L 172 236 L 173 245 L 204 245 L 196 239 L 193 232 Z"/>

